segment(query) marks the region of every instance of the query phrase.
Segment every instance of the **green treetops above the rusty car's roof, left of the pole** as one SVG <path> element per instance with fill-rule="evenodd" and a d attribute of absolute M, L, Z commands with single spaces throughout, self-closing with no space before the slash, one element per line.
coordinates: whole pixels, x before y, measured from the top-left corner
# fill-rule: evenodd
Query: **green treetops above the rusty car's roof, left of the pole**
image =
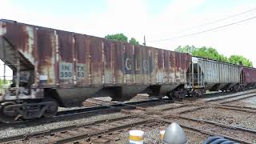
<path fill-rule="evenodd" d="M 128 42 L 128 37 L 126 37 L 126 35 L 122 34 L 122 33 L 120 33 L 120 34 L 107 34 L 105 36 L 105 38 L 120 41 L 120 42 Z M 130 38 L 129 43 L 133 44 L 133 45 L 139 45 L 139 42 L 135 38 Z"/>

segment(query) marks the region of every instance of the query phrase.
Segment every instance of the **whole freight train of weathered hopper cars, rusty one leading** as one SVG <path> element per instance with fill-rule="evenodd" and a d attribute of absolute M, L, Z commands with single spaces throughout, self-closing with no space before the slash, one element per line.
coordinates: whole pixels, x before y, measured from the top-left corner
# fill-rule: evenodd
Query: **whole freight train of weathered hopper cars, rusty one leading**
<path fill-rule="evenodd" d="M 86 98 L 184 98 L 256 83 L 254 68 L 4 19 L 0 58 L 13 70 L 0 94 L 1 122 L 50 118 Z"/>

